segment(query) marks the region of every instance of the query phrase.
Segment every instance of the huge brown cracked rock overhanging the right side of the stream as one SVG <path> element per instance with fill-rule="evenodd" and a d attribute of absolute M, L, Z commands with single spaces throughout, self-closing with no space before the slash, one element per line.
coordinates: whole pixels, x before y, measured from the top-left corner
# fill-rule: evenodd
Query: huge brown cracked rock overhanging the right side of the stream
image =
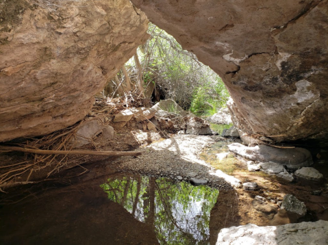
<path fill-rule="evenodd" d="M 238 128 L 327 136 L 327 0 L 131 1 L 223 78 Z"/>

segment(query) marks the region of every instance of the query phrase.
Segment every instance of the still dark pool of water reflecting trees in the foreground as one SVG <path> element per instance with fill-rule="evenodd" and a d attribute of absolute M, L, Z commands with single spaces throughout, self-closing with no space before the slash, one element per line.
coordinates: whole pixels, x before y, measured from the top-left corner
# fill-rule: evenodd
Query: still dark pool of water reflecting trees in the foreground
<path fill-rule="evenodd" d="M 0 205 L 1 245 L 215 244 L 225 216 L 218 190 L 166 178 L 125 173 L 40 188 Z"/>

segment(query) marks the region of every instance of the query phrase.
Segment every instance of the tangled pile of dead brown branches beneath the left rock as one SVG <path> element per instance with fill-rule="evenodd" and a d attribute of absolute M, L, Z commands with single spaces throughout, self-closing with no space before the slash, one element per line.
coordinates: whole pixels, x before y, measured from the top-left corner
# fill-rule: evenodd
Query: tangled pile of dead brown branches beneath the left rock
<path fill-rule="evenodd" d="M 79 125 L 88 120 L 88 118 L 111 118 L 114 114 L 127 109 L 127 107 L 147 106 L 150 103 L 150 99 L 141 98 L 136 93 L 130 93 L 115 99 L 96 99 L 91 112 L 83 120 L 71 127 L 55 131 L 41 138 L 25 138 L 19 143 L 12 141 L 0 144 L 0 154 L 10 151 L 21 151 L 25 153 L 24 161 L 22 162 L 14 164 L 5 162 L 0 165 L 0 191 L 4 192 L 5 188 L 15 185 L 35 183 L 34 181 L 30 181 L 31 175 L 39 171 L 45 171 L 47 177 L 49 177 L 53 173 L 59 172 L 60 169 L 68 166 L 68 164 L 70 167 L 80 166 L 81 155 L 135 156 L 140 154 L 137 151 L 99 151 L 92 139 L 88 140 L 92 142 L 93 151 L 73 151 L 70 143 L 72 139 L 76 138 Z M 68 155 L 75 155 L 75 157 L 68 157 Z M 81 166 L 81 168 L 84 167 Z"/>

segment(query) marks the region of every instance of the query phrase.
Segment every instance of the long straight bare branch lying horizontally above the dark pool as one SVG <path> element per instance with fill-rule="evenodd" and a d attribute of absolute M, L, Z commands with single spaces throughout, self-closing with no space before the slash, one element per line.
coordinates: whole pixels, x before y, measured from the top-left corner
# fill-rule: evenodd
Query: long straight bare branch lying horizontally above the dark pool
<path fill-rule="evenodd" d="M 40 149 L 27 149 L 17 146 L 0 146 L 0 151 L 21 151 L 25 153 L 43 154 L 43 155 L 140 155 L 140 151 L 51 151 Z"/>

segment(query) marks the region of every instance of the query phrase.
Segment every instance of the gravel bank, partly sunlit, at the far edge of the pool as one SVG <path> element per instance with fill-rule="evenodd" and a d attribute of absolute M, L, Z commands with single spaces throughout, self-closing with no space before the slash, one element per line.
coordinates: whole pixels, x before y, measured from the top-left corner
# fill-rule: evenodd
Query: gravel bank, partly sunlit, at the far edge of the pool
<path fill-rule="evenodd" d="M 215 168 L 198 157 L 205 146 L 214 142 L 214 136 L 176 135 L 138 149 L 142 155 L 137 158 L 120 159 L 118 168 L 144 175 L 170 177 L 177 181 L 200 179 L 219 190 L 231 190 L 233 188 L 225 180 L 231 179 L 231 176 L 223 173 L 220 173 L 220 177 L 214 176 Z"/>

